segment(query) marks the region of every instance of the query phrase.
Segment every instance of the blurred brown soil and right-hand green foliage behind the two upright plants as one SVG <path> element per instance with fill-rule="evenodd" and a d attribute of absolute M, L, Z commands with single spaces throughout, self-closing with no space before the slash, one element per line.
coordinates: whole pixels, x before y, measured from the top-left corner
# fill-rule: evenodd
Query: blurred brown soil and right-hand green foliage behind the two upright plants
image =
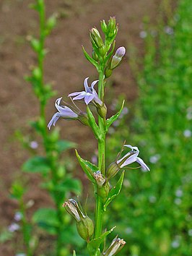
<path fill-rule="evenodd" d="M 40 175 L 22 172 L 22 164 L 31 154 L 43 152 L 40 137 L 29 124 L 38 116 L 38 101 L 23 78 L 36 61 L 26 40 L 28 35 L 38 35 L 38 15 L 28 7 L 32 2 L 0 1 L 3 256 L 25 251 L 18 242 L 22 236 L 19 230 L 10 229 L 18 209 L 17 200 L 10 197 L 12 183 L 22 179 L 27 186 L 24 201 L 30 205 L 28 220 L 38 208 L 53 206 L 40 186 Z M 47 122 L 55 113 L 56 98 L 63 96 L 66 100 L 69 93 L 81 90 L 84 77 L 97 79 L 94 67 L 82 53 L 82 45 L 87 52 L 92 49 L 90 28 L 100 29 L 100 20 L 113 15 L 119 24 L 116 47 L 126 47 L 126 58 L 108 80 L 108 116 L 118 111 L 123 98 L 126 106 L 110 129 L 107 166 L 126 140 L 139 147 L 141 158 L 151 169 L 149 173 L 140 169 L 126 171 L 121 195 L 105 215 L 105 226 L 117 226 L 115 234 L 126 240 L 121 255 L 191 255 L 191 1 L 46 0 L 45 7 L 48 16 L 58 13 L 58 23 L 46 40 L 45 81 L 58 92 L 46 107 Z M 83 158 L 97 162 L 97 143 L 87 127 L 64 120 L 57 126 L 62 139 L 77 143 Z M 81 200 L 85 202 L 88 193 L 88 208 L 93 209 L 94 193 L 75 161 L 74 150 L 66 151 L 63 157 L 71 174 L 84 185 Z M 34 255 L 54 255 L 53 234 L 43 232 L 37 228 L 39 242 Z M 75 244 L 69 237 L 69 251 L 79 247 L 77 255 L 81 255 L 83 242 Z"/>

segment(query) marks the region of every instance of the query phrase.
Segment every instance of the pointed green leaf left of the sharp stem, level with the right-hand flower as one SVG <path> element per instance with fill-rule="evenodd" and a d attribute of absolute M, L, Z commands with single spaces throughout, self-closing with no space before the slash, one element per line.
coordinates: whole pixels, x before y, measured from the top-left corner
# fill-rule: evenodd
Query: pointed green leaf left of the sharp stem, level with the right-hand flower
<path fill-rule="evenodd" d="M 95 164 L 90 163 L 89 161 L 86 161 L 83 158 L 81 158 L 80 155 L 78 154 L 77 150 L 75 150 L 75 153 L 77 155 L 77 159 L 79 161 L 80 166 L 82 167 L 84 173 L 87 175 L 87 178 L 90 179 L 90 181 L 95 184 L 95 178 L 93 176 L 93 173 L 95 171 L 98 171 L 97 166 L 95 166 Z"/>

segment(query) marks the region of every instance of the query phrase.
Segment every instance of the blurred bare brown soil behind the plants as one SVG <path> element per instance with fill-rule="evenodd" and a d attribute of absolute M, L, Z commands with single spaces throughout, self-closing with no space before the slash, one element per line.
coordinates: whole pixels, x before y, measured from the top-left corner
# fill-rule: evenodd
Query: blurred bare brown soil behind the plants
<path fill-rule="evenodd" d="M 99 27 L 100 20 L 115 15 L 119 23 L 117 46 L 128 46 L 128 42 L 142 51 L 143 43 L 139 38 L 142 30 L 143 17 L 148 15 L 155 20 L 160 0 L 47 0 L 48 15 L 53 12 L 61 14 L 58 25 L 47 40 L 50 52 L 45 61 L 45 80 L 52 81 L 58 95 L 68 95 L 80 90 L 84 77 L 95 80 L 97 73 L 90 63 L 85 61 L 82 47 L 91 51 L 89 30 L 92 26 Z M 20 166 L 27 159 L 25 152 L 17 141 L 14 132 L 17 129 L 29 130 L 27 121 L 38 115 L 38 102 L 32 94 L 30 85 L 24 80 L 24 74 L 29 73 L 29 67 L 35 64 L 35 55 L 26 43 L 26 36 L 37 34 L 37 14 L 28 8 L 28 0 L 0 1 L 0 140 L 1 140 L 1 180 L 0 180 L 0 221 L 1 226 L 7 226 L 12 221 L 15 202 L 9 200 L 9 188 L 14 179 L 21 175 Z M 126 54 L 128 58 L 128 53 Z M 125 92 L 129 101 L 136 98 L 136 85 L 124 61 L 121 68 L 113 75 L 113 90 L 116 93 Z M 53 103 L 48 104 L 47 120 L 55 112 Z M 84 142 L 84 148 L 79 148 L 83 156 L 89 158 L 95 147 L 95 140 L 87 127 L 72 121 L 60 121 L 61 137 L 74 142 Z M 86 142 L 85 142 L 86 141 Z M 31 177 L 32 184 L 27 198 L 35 201 L 35 207 L 46 205 L 48 196 L 40 192 L 38 178 Z M 1 231 L 1 230 L 0 230 Z M 4 245 L 0 255 L 14 255 L 11 247 Z"/>

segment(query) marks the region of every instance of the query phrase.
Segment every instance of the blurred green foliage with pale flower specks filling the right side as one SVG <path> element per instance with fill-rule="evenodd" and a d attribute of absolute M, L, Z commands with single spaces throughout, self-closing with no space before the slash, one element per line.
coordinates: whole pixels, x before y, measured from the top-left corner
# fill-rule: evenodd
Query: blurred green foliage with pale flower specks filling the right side
<path fill-rule="evenodd" d="M 178 1 L 157 37 L 147 26 L 142 69 L 131 63 L 140 91 L 127 140 L 144 148 L 151 171 L 126 171 L 123 193 L 111 205 L 109 222 L 128 243 L 122 256 L 191 255 L 191 10 L 191 2 Z M 118 147 L 119 139 L 108 145 Z"/>

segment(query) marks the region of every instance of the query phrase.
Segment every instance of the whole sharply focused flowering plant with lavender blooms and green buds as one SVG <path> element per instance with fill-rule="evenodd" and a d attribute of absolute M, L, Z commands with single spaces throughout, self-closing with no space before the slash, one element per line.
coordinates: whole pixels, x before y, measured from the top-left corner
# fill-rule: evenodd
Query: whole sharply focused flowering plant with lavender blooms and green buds
<path fill-rule="evenodd" d="M 123 184 L 124 171 L 121 174 L 120 179 L 116 183 L 115 187 L 110 187 L 110 179 L 121 170 L 131 163 L 137 162 L 139 165 L 149 171 L 149 167 L 144 163 L 144 161 L 138 157 L 139 149 L 137 147 L 132 147 L 131 145 L 124 145 L 131 149 L 130 152 L 119 158 L 121 153 L 119 153 L 116 161 L 110 164 L 110 166 L 105 168 L 105 136 L 111 124 L 120 116 L 123 110 L 124 101 L 122 103 L 120 111 L 110 118 L 107 116 L 107 106 L 105 105 L 105 88 L 106 79 L 110 77 L 113 73 L 113 69 L 121 64 L 123 56 L 126 54 L 126 49 L 121 46 L 114 54 L 115 50 L 115 36 L 118 33 L 118 26 L 116 25 L 115 17 L 110 17 L 108 24 L 105 20 L 101 22 L 101 29 L 105 35 L 105 40 L 102 39 L 99 31 L 94 27 L 90 30 L 90 41 L 92 43 L 92 56 L 90 56 L 87 51 L 83 48 L 84 56 L 90 61 L 97 69 L 99 74 L 99 80 L 92 82 L 91 86 L 88 85 L 88 77 L 84 80 L 84 90 L 70 93 L 69 97 L 71 101 L 84 101 L 87 105 L 87 113 L 82 111 L 76 111 L 73 107 L 60 106 L 61 98 L 56 100 L 56 108 L 58 112 L 53 115 L 51 121 L 48 124 L 48 128 L 51 129 L 51 125 L 55 125 L 59 118 L 74 120 L 78 119 L 82 124 L 87 125 L 92 129 L 93 134 L 98 142 L 98 165 L 95 166 L 90 161 L 85 161 L 76 150 L 77 159 L 79 161 L 82 170 L 90 179 L 95 188 L 96 197 L 96 208 L 95 208 L 95 224 L 87 214 L 84 213 L 82 207 L 74 199 L 69 199 L 64 202 L 64 208 L 67 212 L 74 217 L 77 222 L 77 231 L 79 235 L 87 241 L 87 250 L 90 255 L 116 255 L 126 244 L 123 239 L 115 237 L 110 247 L 103 248 L 102 244 L 105 242 L 105 237 L 110 234 L 110 231 L 102 230 L 102 219 L 103 214 L 108 208 L 110 202 L 112 202 L 115 197 L 121 191 Z M 97 91 L 95 90 L 95 85 L 98 82 Z M 90 109 L 93 105 L 97 110 L 97 121 L 95 119 L 94 111 Z M 122 150 L 123 151 L 123 150 Z M 75 252 L 74 252 L 74 255 Z"/>

